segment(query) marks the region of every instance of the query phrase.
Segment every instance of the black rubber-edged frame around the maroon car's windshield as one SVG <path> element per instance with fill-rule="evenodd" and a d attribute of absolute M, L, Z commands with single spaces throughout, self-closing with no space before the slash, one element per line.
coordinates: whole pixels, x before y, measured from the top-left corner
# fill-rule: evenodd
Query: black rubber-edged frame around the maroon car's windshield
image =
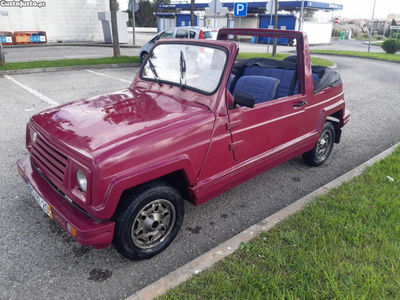
<path fill-rule="evenodd" d="M 190 41 L 190 42 L 189 42 L 188 40 L 189 40 L 189 39 L 158 41 L 158 42 L 152 47 L 152 49 L 151 49 L 149 55 L 147 55 L 146 60 L 143 62 L 143 65 L 142 65 L 141 68 L 140 68 L 140 73 L 139 73 L 140 79 L 143 80 L 143 81 L 151 81 L 151 82 L 157 83 L 157 80 L 156 80 L 156 79 L 145 78 L 145 77 L 143 77 L 143 70 L 144 70 L 144 68 L 145 68 L 145 66 L 146 66 L 146 64 L 147 64 L 147 60 L 151 58 L 151 54 L 153 53 L 153 50 L 154 50 L 156 47 L 160 46 L 161 44 L 181 44 L 181 45 L 193 45 L 193 46 L 199 46 L 199 47 L 208 47 L 208 48 L 213 48 L 213 49 L 221 50 L 221 51 L 223 51 L 223 52 L 225 53 L 225 55 L 226 55 L 225 64 L 224 64 L 224 66 L 223 66 L 223 68 L 222 68 L 221 77 L 220 77 L 220 79 L 219 79 L 219 81 L 218 81 L 218 84 L 216 85 L 215 89 L 214 89 L 213 91 L 211 91 L 211 92 L 206 92 L 206 91 L 203 91 L 203 90 L 200 90 L 200 89 L 191 87 L 191 86 L 186 86 L 186 85 L 184 86 L 184 88 L 185 88 L 185 89 L 188 89 L 188 90 L 191 90 L 191 91 L 198 92 L 198 93 L 200 93 L 200 94 L 202 94 L 202 95 L 207 95 L 207 96 L 210 96 L 210 95 L 215 94 L 215 93 L 219 90 L 219 88 L 220 88 L 220 86 L 221 86 L 222 79 L 224 78 L 225 73 L 226 73 L 226 66 L 227 66 L 228 61 L 229 61 L 229 51 L 228 51 L 227 48 L 222 47 L 222 46 L 212 45 L 212 44 L 208 44 L 208 43 L 204 43 L 204 42 L 196 42 L 196 41 Z M 173 85 L 173 86 L 180 87 L 179 83 L 176 83 L 176 82 L 172 82 L 172 81 L 168 81 L 168 80 L 163 80 L 163 79 L 161 79 L 161 78 L 159 79 L 159 81 L 160 81 L 161 83 L 165 83 L 165 84 L 168 84 L 168 85 Z"/>

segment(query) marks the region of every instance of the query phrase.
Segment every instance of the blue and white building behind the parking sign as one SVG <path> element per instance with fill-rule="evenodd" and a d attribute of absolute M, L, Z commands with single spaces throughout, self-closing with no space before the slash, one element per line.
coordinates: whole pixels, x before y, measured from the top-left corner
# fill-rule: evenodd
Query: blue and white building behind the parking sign
<path fill-rule="evenodd" d="M 208 3 L 195 4 L 195 25 L 214 28 L 268 28 L 274 24 L 274 16 L 266 14 L 267 2 L 248 2 L 247 16 L 234 16 L 234 2 L 223 2 L 219 15 L 214 15 Z M 343 5 L 315 1 L 304 1 L 304 23 L 302 30 L 308 34 L 310 44 L 330 43 L 333 12 L 342 10 Z M 301 1 L 280 1 L 278 28 L 298 30 Z M 160 4 L 156 13 L 158 31 L 175 26 L 190 25 L 190 4 Z M 267 42 L 260 38 L 258 42 Z M 278 43 L 286 44 L 286 39 Z"/>

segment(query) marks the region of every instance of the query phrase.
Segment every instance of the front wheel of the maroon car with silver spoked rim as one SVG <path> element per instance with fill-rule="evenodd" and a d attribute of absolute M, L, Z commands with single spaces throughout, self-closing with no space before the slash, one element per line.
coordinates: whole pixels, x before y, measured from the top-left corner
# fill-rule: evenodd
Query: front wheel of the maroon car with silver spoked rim
<path fill-rule="evenodd" d="M 131 260 L 149 259 L 175 239 L 184 217 L 179 192 L 164 182 L 151 182 L 127 194 L 113 217 L 113 245 Z"/>

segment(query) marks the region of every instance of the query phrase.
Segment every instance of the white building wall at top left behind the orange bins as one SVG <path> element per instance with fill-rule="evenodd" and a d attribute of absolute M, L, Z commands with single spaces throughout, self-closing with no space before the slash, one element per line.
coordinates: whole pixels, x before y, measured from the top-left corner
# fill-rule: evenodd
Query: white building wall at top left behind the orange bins
<path fill-rule="evenodd" d="M 98 12 L 109 0 L 3 0 L 0 31 L 45 31 L 50 42 L 104 41 Z"/>

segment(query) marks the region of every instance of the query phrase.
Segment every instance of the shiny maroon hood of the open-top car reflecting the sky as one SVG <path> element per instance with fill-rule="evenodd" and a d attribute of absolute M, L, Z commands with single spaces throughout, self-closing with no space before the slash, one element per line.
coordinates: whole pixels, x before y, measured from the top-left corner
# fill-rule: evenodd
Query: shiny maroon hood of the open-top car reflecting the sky
<path fill-rule="evenodd" d="M 45 110 L 31 122 L 52 139 L 90 156 L 166 126 L 179 126 L 189 116 L 206 111 L 181 98 L 130 88 Z"/>

